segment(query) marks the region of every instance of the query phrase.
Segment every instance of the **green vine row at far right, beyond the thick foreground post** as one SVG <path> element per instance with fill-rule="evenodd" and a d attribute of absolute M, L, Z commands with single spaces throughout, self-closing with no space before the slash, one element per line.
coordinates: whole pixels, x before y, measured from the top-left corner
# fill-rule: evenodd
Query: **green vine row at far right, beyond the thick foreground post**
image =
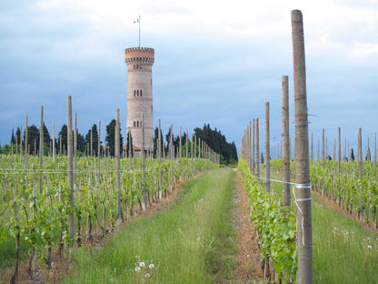
<path fill-rule="evenodd" d="M 272 169 L 282 172 L 282 160 L 276 159 Z M 295 173 L 295 163 L 291 163 L 291 173 Z M 339 207 L 357 215 L 363 222 L 378 228 L 378 180 L 373 161 L 363 161 L 363 176 L 357 161 L 338 162 L 313 160 L 310 168 L 312 189 L 318 194 L 332 199 Z"/>

